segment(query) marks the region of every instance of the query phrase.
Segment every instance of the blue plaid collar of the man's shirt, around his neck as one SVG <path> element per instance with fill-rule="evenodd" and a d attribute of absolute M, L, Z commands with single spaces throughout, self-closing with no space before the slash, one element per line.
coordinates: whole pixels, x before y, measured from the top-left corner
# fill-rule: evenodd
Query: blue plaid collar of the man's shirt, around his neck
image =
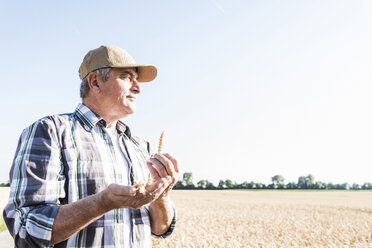
<path fill-rule="evenodd" d="M 97 124 L 106 127 L 106 121 L 101 116 L 94 113 L 92 110 L 90 110 L 87 106 L 85 106 L 82 103 L 79 103 L 78 106 L 76 107 L 75 115 L 81 121 L 84 129 L 88 132 L 91 132 L 93 127 Z M 116 129 L 118 130 L 120 135 L 125 133 L 130 138 L 131 133 L 129 127 L 125 125 L 121 120 L 118 121 Z"/>

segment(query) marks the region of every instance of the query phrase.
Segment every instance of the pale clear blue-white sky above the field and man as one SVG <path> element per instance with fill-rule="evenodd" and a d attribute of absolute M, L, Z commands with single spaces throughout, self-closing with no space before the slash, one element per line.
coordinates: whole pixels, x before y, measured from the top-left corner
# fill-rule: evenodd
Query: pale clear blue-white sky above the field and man
<path fill-rule="evenodd" d="M 80 102 L 102 44 L 158 67 L 132 131 L 194 182 L 372 182 L 372 1 L 2 1 L 0 182 L 21 131 Z"/>

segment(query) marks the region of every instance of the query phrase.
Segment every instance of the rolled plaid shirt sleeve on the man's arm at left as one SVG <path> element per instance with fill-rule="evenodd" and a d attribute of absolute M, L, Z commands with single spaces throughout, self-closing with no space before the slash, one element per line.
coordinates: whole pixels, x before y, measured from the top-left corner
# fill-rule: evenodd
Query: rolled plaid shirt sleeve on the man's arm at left
<path fill-rule="evenodd" d="M 11 191 L 3 217 L 15 247 L 49 247 L 54 219 L 65 197 L 63 165 L 50 119 L 26 128 L 10 171 Z"/>

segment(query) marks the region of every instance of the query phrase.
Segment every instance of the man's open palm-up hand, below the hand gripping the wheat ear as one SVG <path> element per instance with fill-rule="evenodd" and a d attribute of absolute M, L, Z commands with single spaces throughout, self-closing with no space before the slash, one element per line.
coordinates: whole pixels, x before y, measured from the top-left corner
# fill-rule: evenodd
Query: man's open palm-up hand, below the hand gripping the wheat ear
<path fill-rule="evenodd" d="M 156 200 L 171 183 L 172 178 L 170 176 L 159 178 L 148 185 L 143 193 L 136 190 L 133 186 L 110 184 L 99 193 L 101 204 L 105 211 L 116 208 L 139 209 Z"/>

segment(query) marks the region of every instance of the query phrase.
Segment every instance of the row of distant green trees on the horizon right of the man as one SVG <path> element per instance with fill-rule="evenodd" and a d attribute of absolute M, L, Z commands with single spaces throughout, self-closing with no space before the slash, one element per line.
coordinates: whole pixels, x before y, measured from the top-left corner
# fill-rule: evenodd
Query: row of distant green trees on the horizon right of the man
<path fill-rule="evenodd" d="M 243 182 L 237 183 L 230 179 L 220 180 L 218 185 L 214 185 L 208 180 L 200 180 L 196 183 L 193 182 L 193 175 L 191 172 L 183 173 L 182 180 L 178 181 L 174 189 L 343 189 L 343 190 L 365 190 L 372 189 L 372 183 L 352 185 L 348 183 L 334 184 L 315 181 L 313 175 L 300 176 L 297 182 L 284 183 L 284 177 L 275 175 L 271 177 L 270 184 L 259 182 Z"/>

